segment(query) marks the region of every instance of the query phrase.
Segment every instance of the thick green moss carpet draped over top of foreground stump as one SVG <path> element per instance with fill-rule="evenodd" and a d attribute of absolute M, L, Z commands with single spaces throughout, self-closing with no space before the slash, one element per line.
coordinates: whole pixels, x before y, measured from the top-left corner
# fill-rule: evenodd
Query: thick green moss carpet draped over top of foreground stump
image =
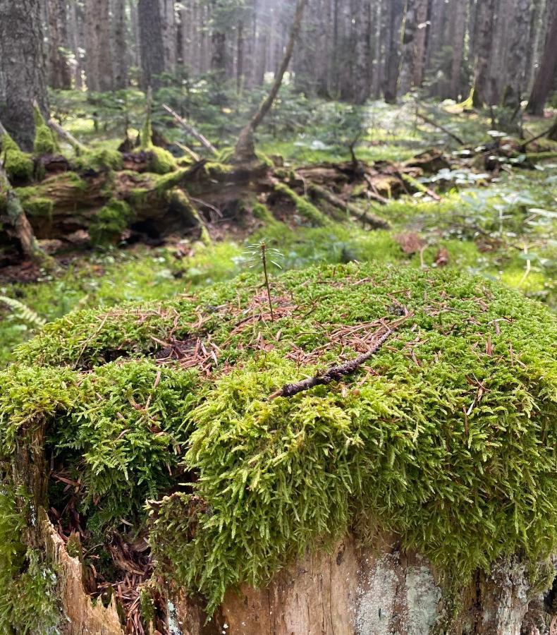
<path fill-rule="evenodd" d="M 379 265 L 290 272 L 271 296 L 274 320 L 256 276 L 47 325 L 0 375 L 0 456 L 43 426 L 95 536 L 147 526 L 159 572 L 213 608 L 349 526 L 397 533 L 460 582 L 554 552 L 548 310 L 482 278 Z M 404 314 L 342 382 L 269 399 Z M 49 495 L 63 509 L 64 488 Z"/>

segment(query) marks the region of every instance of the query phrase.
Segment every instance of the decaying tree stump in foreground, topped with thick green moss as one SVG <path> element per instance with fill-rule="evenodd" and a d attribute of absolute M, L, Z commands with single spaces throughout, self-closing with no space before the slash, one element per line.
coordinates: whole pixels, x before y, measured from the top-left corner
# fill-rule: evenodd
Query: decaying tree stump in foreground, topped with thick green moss
<path fill-rule="evenodd" d="M 128 632 L 286 635 L 321 616 L 327 635 L 518 635 L 557 551 L 556 318 L 483 278 L 377 265 L 284 274 L 271 301 L 274 320 L 243 277 L 73 313 L 20 347 L 0 374 L 18 519 L 0 513 L 0 545 L 21 545 L 9 566 L 0 548 L 0 607 L 51 566 L 43 508 Z M 269 399 L 400 315 L 341 382 Z"/>

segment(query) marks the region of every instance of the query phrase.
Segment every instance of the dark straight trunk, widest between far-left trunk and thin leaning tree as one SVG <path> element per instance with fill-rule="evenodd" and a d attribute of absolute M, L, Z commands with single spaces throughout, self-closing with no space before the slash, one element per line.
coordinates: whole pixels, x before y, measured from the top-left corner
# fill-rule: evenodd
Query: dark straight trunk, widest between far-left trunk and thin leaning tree
<path fill-rule="evenodd" d="M 154 0 L 139 0 L 137 18 L 140 30 L 142 87 L 161 87 L 164 73 L 164 42 L 161 6 Z"/>

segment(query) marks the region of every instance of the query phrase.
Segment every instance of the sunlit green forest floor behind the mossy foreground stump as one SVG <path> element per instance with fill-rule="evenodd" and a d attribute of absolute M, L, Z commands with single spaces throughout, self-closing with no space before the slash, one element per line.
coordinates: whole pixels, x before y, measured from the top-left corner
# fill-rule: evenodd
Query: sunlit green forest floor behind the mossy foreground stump
<path fill-rule="evenodd" d="M 55 109 L 63 126 L 83 143 L 115 148 L 122 139 L 124 113 L 131 134 L 140 129 L 141 99 L 128 91 L 125 99 L 91 104 L 79 93 L 65 93 L 56 96 Z M 272 158 L 280 155 L 286 168 L 350 160 L 353 112 L 334 102 L 315 106 L 298 101 L 296 107 L 298 111 L 286 100 L 279 104 L 259 138 L 259 150 Z M 244 115 L 215 108 L 219 116 L 213 112 L 212 123 L 200 127 L 223 147 L 231 143 L 235 121 Z M 25 263 L 5 268 L 0 270 L 0 296 L 15 298 L 23 308 L 0 306 L 0 365 L 11 361 L 14 347 L 41 322 L 76 308 L 171 298 L 234 277 L 249 266 L 246 247 L 262 240 L 279 250 L 283 270 L 350 260 L 454 267 L 501 280 L 556 309 L 557 158 L 536 162 L 534 169 L 525 169 L 519 159 L 487 172 L 468 157 L 469 150 L 417 119 L 415 111 L 412 101 L 396 107 L 374 102 L 357 115 L 362 133 L 355 152 L 362 162 L 402 162 L 431 147 L 451 159 L 451 168 L 420 179 L 429 193 L 403 194 L 382 206 L 363 204 L 388 220 L 391 229 L 369 230 L 355 222 L 314 228 L 293 217 L 288 223 L 240 226 L 230 234 L 213 219 L 209 245 L 183 236 L 151 244 L 122 241 L 111 248 L 57 255 L 61 270 L 56 274 Z M 489 118 L 453 105 L 429 104 L 428 113 L 467 147 L 496 138 L 488 132 Z M 196 121 L 202 121 L 199 113 Z M 550 121 L 532 119 L 525 128 L 537 135 Z M 165 135 L 183 140 L 179 128 L 165 128 Z M 278 272 L 272 267 L 272 274 Z"/>

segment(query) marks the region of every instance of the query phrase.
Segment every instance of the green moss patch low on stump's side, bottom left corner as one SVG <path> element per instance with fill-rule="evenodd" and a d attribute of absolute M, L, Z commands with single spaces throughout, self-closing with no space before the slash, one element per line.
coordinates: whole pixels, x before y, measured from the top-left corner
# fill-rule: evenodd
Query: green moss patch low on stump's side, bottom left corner
<path fill-rule="evenodd" d="M 23 544 L 25 516 L 18 503 L 25 498 L 22 492 L 16 495 L 8 483 L 1 483 L 0 631 L 46 635 L 59 622 L 56 573 L 39 551 Z"/>

